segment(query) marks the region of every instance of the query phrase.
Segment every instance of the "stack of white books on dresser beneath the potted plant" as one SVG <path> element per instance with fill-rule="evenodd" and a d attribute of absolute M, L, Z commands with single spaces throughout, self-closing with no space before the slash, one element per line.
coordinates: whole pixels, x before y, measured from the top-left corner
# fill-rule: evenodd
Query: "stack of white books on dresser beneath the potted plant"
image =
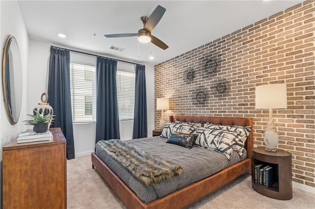
<path fill-rule="evenodd" d="M 32 129 L 28 129 L 19 134 L 17 143 L 36 142 L 36 141 L 49 141 L 53 140 L 53 134 L 47 130 L 44 133 L 36 133 Z"/>

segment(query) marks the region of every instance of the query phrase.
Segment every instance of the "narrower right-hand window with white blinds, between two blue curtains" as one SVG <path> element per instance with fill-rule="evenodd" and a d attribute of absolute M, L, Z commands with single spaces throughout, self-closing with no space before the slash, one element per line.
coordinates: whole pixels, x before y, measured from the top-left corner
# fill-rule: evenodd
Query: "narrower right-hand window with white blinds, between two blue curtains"
<path fill-rule="evenodd" d="M 117 70 L 116 81 L 119 120 L 133 120 L 135 73 Z"/>

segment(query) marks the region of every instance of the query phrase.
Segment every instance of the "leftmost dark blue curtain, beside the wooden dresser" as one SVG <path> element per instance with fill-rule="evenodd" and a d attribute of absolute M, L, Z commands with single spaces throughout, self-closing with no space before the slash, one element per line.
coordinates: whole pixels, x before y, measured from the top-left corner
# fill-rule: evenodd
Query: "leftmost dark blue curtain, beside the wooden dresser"
<path fill-rule="evenodd" d="M 54 109 L 51 127 L 60 127 L 66 138 L 67 158 L 74 158 L 74 141 L 70 94 L 70 53 L 50 48 L 48 102 Z"/>

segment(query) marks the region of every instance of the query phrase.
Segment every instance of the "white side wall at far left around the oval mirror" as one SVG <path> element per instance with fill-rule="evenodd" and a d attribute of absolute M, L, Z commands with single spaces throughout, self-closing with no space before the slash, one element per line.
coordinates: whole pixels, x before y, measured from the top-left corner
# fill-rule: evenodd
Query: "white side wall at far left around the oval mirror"
<path fill-rule="evenodd" d="M 17 1 L 1 1 L 0 0 L 0 60 L 2 62 L 3 46 L 6 37 L 13 35 L 19 46 L 22 75 L 23 75 L 23 93 L 22 108 L 19 121 L 16 125 L 11 125 L 6 117 L 5 106 L 3 102 L 3 89 L 1 84 L 0 93 L 0 188 L 2 188 L 2 147 L 12 141 L 20 132 L 24 131 L 23 120 L 26 120 L 26 100 L 27 100 L 27 66 L 28 66 L 28 50 L 29 37 L 21 15 L 20 7 Z M 1 68 L 2 69 L 2 68 Z M 2 189 L 1 189 L 2 192 Z M 1 199 L 2 195 L 0 195 Z M 1 202 L 1 201 L 0 201 Z"/>

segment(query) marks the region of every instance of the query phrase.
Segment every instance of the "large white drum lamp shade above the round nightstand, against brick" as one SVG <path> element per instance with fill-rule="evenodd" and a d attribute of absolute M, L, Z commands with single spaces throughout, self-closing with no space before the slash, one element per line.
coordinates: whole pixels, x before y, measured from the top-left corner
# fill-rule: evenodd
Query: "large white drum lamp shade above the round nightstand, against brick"
<path fill-rule="evenodd" d="M 281 109 L 286 108 L 286 84 L 267 84 L 256 86 L 256 109 Z"/>

